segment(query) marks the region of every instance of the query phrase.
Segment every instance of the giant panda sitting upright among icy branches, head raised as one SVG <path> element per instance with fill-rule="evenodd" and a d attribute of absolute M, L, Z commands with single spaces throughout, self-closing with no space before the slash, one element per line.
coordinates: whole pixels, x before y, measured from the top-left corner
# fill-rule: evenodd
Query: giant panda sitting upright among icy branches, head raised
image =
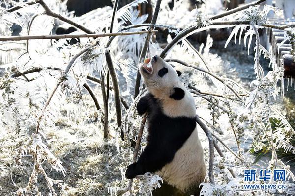
<path fill-rule="evenodd" d="M 156 189 L 153 196 L 198 196 L 206 165 L 194 99 L 179 80 L 181 73 L 162 58 L 152 57 L 151 66 L 141 64 L 139 70 L 148 94 L 136 107 L 140 115 L 148 114 L 148 144 L 138 161 L 127 167 L 125 176 L 131 179 L 146 172 L 156 173 L 166 187 L 176 190 L 171 193 Z"/>

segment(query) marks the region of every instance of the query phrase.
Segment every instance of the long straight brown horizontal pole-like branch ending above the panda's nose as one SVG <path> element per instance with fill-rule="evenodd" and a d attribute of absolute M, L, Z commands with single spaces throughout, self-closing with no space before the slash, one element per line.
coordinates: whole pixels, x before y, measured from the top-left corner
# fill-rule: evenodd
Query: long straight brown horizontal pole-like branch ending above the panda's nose
<path fill-rule="evenodd" d="M 81 37 L 109 37 L 109 36 L 125 36 L 136 34 L 152 34 L 157 33 L 157 30 L 146 30 L 136 32 L 118 32 L 118 33 L 98 33 L 98 34 L 63 34 L 63 35 L 17 35 L 17 36 L 1 36 L 0 41 L 20 41 L 20 40 L 36 40 L 36 39 L 68 39 L 68 38 L 81 38 Z"/>

